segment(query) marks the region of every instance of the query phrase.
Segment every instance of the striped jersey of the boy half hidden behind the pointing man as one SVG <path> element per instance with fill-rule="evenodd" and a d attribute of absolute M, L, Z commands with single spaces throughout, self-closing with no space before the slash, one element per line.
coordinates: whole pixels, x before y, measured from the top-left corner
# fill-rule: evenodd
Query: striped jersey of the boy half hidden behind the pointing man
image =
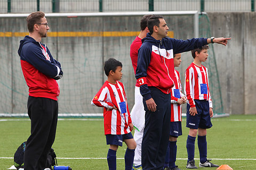
<path fill-rule="evenodd" d="M 181 121 L 181 105 L 177 104 L 178 98 L 185 96 L 182 94 L 182 86 L 180 82 L 180 73 L 174 70 L 175 78 L 174 86 L 171 90 L 171 122 Z"/>

